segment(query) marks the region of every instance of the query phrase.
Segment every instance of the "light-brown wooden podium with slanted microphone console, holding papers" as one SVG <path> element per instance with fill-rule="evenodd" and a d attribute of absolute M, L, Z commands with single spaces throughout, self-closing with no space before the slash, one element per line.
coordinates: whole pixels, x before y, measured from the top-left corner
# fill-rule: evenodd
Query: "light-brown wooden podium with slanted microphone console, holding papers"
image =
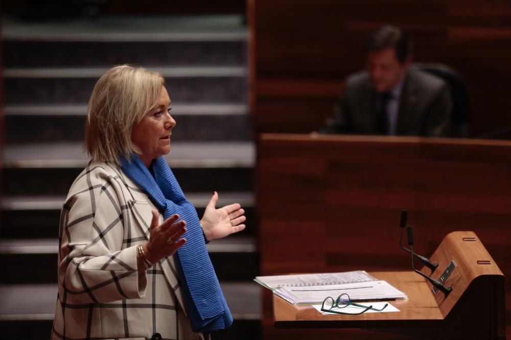
<path fill-rule="evenodd" d="M 310 305 L 292 305 L 274 296 L 277 328 L 365 328 L 416 338 L 505 339 L 504 275 L 472 231 L 447 235 L 431 256 L 439 279 L 455 264 L 445 279 L 451 293 L 432 292 L 432 285 L 413 271 L 371 272 L 407 294 L 408 300 L 390 303 L 400 312 L 365 313 L 359 316 L 321 315 Z M 430 270 L 422 268 L 427 275 Z"/>

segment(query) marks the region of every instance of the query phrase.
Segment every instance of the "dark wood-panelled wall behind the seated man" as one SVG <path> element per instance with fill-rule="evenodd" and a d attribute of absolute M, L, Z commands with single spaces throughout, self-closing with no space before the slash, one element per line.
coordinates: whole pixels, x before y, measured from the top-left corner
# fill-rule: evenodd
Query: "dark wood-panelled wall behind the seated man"
<path fill-rule="evenodd" d="M 333 113 L 345 77 L 365 66 L 364 40 L 382 24 L 411 33 L 417 62 L 445 63 L 466 79 L 473 136 L 511 129 L 511 2 L 494 0 L 248 0 L 250 89 L 258 132 L 307 132 Z M 285 82 L 283 82 L 285 80 Z M 292 115 L 294 100 L 286 83 L 317 90 L 318 83 L 336 84 L 337 91 L 310 99 L 297 112 L 299 125 L 279 123 Z M 269 92 L 271 95 L 261 95 Z M 267 102 L 289 105 L 271 108 Z M 321 101 L 324 101 L 323 103 Z M 328 104 L 327 104 L 328 103 Z M 281 118 L 277 118 L 281 117 Z M 319 119 L 319 118 L 320 119 Z M 319 122 L 319 123 L 318 123 Z"/>

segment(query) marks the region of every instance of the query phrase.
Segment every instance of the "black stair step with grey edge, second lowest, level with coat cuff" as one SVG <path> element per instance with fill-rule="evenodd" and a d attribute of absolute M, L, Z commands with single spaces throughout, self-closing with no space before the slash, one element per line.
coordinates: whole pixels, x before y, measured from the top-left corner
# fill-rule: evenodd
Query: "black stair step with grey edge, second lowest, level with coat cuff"
<path fill-rule="evenodd" d="M 259 253 L 251 237 L 231 235 L 206 245 L 219 280 L 251 280 L 259 275 Z M 0 241 L 0 284 L 57 282 L 58 239 Z M 30 275 L 27 275 L 30 273 Z"/>

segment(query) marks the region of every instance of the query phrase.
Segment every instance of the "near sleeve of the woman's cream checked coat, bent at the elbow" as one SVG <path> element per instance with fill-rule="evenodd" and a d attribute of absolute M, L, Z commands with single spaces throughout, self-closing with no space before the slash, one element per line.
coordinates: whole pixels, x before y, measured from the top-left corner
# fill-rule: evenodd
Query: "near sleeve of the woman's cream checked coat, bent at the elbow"
<path fill-rule="evenodd" d="M 121 204 L 122 184 L 105 173 L 86 175 L 61 213 L 59 289 L 69 303 L 142 298 L 147 277 L 138 275 L 136 246 L 124 248 L 130 226 L 124 225 L 129 204 Z"/>

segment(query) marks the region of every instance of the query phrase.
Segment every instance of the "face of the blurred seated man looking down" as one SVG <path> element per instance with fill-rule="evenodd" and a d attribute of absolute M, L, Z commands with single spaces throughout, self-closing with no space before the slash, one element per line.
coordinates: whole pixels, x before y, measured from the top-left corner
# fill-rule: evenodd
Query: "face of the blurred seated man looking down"
<path fill-rule="evenodd" d="M 371 84 L 378 93 L 390 91 L 396 86 L 408 68 L 410 61 L 401 64 L 393 48 L 367 54 L 367 71 Z"/>

